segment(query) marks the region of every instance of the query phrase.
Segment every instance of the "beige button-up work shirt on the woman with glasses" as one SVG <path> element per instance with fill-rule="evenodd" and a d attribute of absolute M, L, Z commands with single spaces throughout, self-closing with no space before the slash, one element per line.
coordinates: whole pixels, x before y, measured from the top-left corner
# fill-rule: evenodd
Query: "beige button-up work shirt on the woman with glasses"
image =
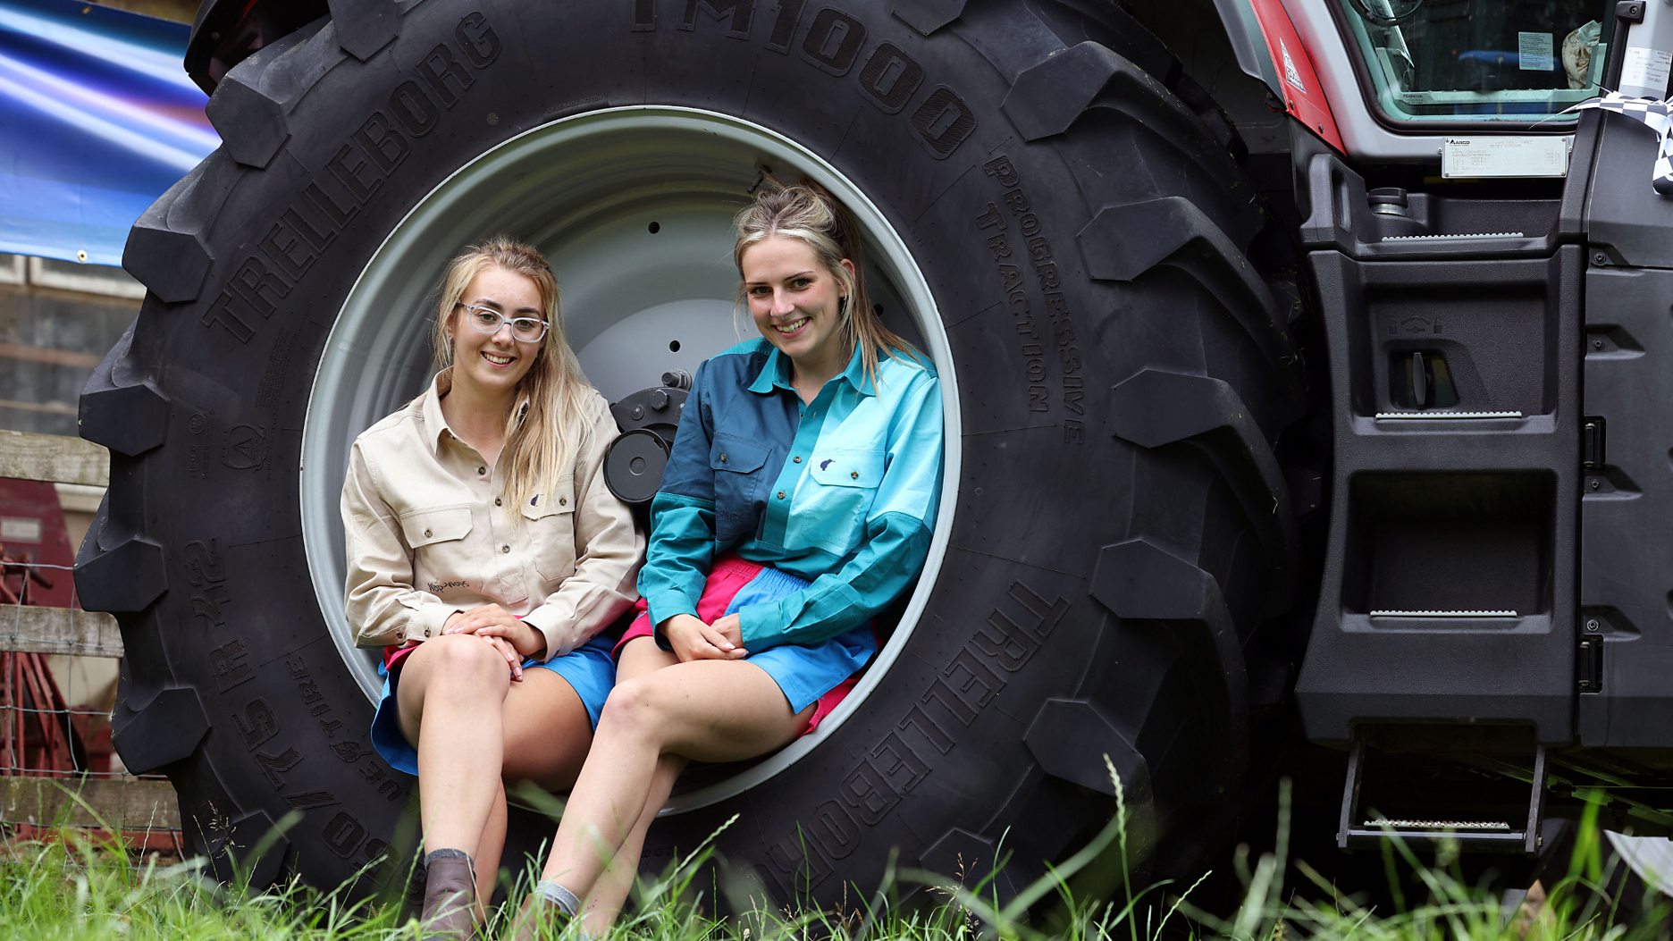
<path fill-rule="evenodd" d="M 616 420 L 597 393 L 586 415 L 565 415 L 586 429 L 572 472 L 527 506 L 505 506 L 504 467 L 489 467 L 442 417 L 452 385 L 452 370 L 440 372 L 355 439 L 343 481 L 355 643 L 423 641 L 455 611 L 494 603 L 545 636 L 547 660 L 562 656 L 637 599 L 644 537 L 604 486 Z"/>

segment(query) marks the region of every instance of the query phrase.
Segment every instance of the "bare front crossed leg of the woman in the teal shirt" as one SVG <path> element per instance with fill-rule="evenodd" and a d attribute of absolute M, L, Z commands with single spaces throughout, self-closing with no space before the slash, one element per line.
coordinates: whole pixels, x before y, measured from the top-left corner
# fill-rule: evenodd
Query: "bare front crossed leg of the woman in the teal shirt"
<path fill-rule="evenodd" d="M 644 817 L 664 753 L 704 762 L 753 758 L 793 740 L 811 712 L 791 713 L 773 678 L 748 661 L 696 660 L 617 683 L 542 879 L 586 897 L 606 861 L 637 866 L 637 852 L 629 857 L 622 851 Z M 589 909 L 586 929 L 602 934 L 612 921 L 614 911 Z"/>

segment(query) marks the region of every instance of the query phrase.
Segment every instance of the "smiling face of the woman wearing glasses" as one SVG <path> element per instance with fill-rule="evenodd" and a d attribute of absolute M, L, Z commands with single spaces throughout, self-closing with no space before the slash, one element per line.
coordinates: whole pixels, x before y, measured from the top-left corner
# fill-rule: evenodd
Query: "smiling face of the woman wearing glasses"
<path fill-rule="evenodd" d="M 535 283 L 497 265 L 489 265 L 465 285 L 460 305 L 467 303 L 505 316 L 545 320 Z M 495 333 L 482 333 L 470 327 L 470 315 L 463 306 L 453 306 L 447 332 L 453 345 L 453 388 L 465 387 L 490 397 L 515 395 L 517 383 L 529 375 L 544 343 L 519 342 L 509 323 L 502 323 Z"/>

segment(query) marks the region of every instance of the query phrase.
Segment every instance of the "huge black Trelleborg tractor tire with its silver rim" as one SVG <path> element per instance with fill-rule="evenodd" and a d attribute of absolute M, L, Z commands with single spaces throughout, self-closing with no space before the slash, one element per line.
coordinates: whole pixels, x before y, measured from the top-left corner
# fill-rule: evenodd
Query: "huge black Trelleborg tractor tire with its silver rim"
<path fill-rule="evenodd" d="M 115 743 L 174 780 L 194 851 L 335 886 L 400 830 L 336 494 L 428 378 L 442 263 L 495 231 L 547 248 L 617 400 L 738 340 L 728 218 L 760 164 L 855 209 L 944 380 L 945 491 L 855 695 L 693 775 L 647 866 L 738 814 L 716 849 L 778 899 L 872 889 L 897 851 L 1002 852 L 1017 884 L 1111 819 L 1106 755 L 1134 862 L 1225 839 L 1297 650 L 1275 444 L 1307 392 L 1265 275 L 1287 243 L 1153 39 L 1072 0 L 331 7 L 221 80 L 224 144 L 134 228 L 149 296 L 80 407 L 112 450 L 77 583 L 122 623 Z"/>

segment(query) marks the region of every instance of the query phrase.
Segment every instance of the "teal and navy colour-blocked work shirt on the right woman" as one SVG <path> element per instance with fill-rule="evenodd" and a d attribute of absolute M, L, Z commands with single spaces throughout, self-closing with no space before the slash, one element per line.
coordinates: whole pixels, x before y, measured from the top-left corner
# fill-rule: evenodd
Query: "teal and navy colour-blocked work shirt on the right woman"
<path fill-rule="evenodd" d="M 810 584 L 739 608 L 743 646 L 818 643 L 865 625 L 923 568 L 940 501 L 942 400 L 935 370 L 857 352 L 811 404 L 766 340 L 698 368 L 651 502 L 639 593 L 651 623 L 696 614 L 724 553 Z M 661 638 L 659 638 L 661 640 Z"/>

